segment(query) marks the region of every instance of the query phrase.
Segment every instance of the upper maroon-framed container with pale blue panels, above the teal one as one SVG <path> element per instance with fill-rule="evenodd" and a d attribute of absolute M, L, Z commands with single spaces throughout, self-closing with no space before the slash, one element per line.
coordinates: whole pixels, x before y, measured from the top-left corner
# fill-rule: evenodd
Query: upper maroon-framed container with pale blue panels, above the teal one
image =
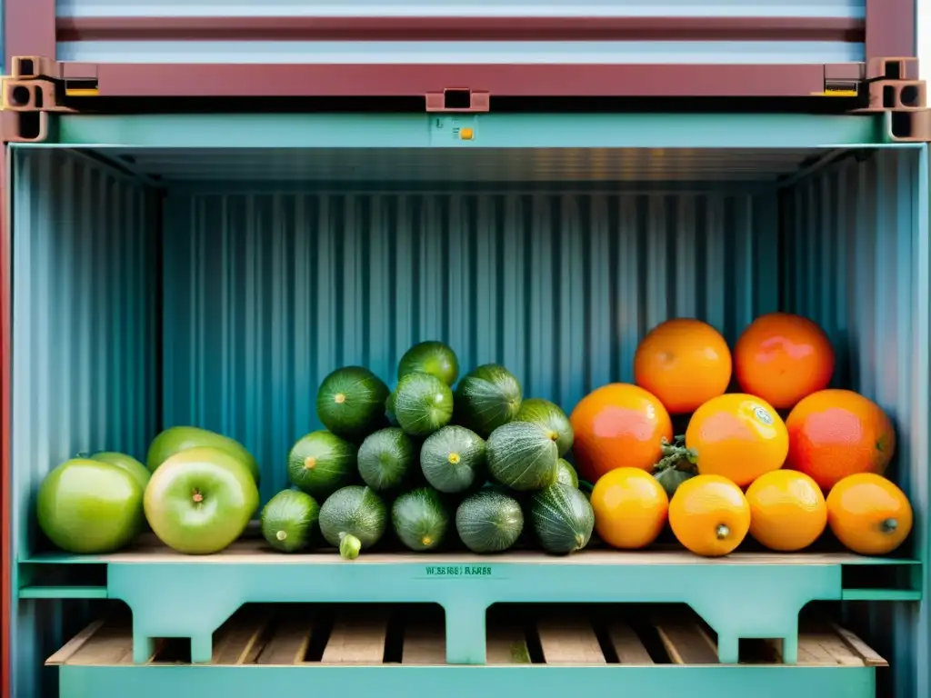
<path fill-rule="evenodd" d="M 914 0 L 6 0 L 11 57 L 104 97 L 849 97 Z M 878 63 L 875 63 L 878 65 Z M 471 94 L 469 94 L 471 93 Z M 913 101 L 906 101 L 915 106 Z"/>

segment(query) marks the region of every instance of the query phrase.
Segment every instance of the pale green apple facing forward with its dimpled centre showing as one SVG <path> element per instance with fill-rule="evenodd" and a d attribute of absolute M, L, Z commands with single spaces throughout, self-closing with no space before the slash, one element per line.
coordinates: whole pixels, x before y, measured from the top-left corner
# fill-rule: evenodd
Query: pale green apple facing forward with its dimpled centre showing
<path fill-rule="evenodd" d="M 187 555 L 209 555 L 246 529 L 259 507 L 259 490 L 246 463 L 205 446 L 161 463 L 143 503 L 149 526 L 164 544 Z"/>

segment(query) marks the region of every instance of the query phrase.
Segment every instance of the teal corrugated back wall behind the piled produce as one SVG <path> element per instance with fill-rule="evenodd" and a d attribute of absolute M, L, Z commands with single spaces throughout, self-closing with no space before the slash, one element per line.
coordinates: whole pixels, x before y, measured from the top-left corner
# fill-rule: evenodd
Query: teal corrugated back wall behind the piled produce
<path fill-rule="evenodd" d="M 672 315 L 731 339 L 778 301 L 776 198 L 760 195 L 169 195 L 164 422 L 241 439 L 263 499 L 346 364 L 394 383 L 412 342 L 514 370 L 565 409 L 631 380 Z M 728 267 L 735 267 L 729 269 Z M 763 283 L 758 283 L 762 279 Z"/>

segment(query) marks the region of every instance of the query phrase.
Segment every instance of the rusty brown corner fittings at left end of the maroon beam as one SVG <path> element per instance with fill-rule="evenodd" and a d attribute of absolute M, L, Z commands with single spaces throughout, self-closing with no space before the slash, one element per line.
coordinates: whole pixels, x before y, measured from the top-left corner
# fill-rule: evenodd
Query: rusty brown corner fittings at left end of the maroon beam
<path fill-rule="evenodd" d="M 0 78 L 0 140 L 45 141 L 48 114 L 74 113 L 64 98 L 96 93 L 96 87 L 96 66 L 14 56 L 10 74 Z"/>

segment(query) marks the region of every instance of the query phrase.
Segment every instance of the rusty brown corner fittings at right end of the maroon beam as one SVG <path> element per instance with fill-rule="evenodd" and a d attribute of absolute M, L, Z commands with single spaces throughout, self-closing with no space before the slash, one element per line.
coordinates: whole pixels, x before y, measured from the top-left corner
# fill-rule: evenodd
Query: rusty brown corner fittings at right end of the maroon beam
<path fill-rule="evenodd" d="M 859 97 L 865 104 L 851 113 L 889 114 L 886 124 L 891 141 L 931 142 L 927 84 L 918 78 L 918 59 L 870 59 Z"/>

